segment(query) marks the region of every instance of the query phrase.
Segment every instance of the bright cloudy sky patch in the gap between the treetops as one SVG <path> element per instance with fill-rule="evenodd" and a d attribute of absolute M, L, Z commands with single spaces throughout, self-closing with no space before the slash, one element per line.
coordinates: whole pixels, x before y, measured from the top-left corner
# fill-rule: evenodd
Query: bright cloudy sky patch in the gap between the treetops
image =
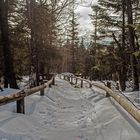
<path fill-rule="evenodd" d="M 79 30 L 80 35 L 84 35 L 86 33 L 91 32 L 94 27 L 91 24 L 89 14 L 91 14 L 91 8 L 90 5 L 96 4 L 97 0 L 86 0 L 86 3 L 83 4 L 85 6 L 78 6 L 76 9 L 76 13 L 79 15 Z"/>

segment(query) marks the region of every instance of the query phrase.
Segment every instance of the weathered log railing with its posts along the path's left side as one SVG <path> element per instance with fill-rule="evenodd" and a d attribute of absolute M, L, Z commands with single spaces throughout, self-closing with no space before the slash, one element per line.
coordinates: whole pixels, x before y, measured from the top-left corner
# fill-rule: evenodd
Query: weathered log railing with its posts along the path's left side
<path fill-rule="evenodd" d="M 25 113 L 25 102 L 24 102 L 25 97 L 32 95 L 38 91 L 40 91 L 40 96 L 44 96 L 45 88 L 49 88 L 51 87 L 51 85 L 54 85 L 54 84 L 55 84 L 55 76 L 53 76 L 51 80 L 49 80 L 47 83 L 43 83 L 40 86 L 31 88 L 31 89 L 21 90 L 17 93 L 13 93 L 10 95 L 0 96 L 0 106 L 16 101 L 17 113 L 24 114 Z"/>

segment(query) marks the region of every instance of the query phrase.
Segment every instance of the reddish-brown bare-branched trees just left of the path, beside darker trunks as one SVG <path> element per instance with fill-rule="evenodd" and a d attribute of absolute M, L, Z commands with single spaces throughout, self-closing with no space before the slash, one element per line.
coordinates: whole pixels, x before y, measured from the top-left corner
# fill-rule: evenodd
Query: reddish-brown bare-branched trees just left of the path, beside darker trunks
<path fill-rule="evenodd" d="M 60 22 L 71 1 L 27 1 L 28 27 L 30 29 L 31 67 L 39 75 L 57 71 L 62 45 Z M 40 55 L 41 54 L 41 55 Z M 58 59 L 58 61 L 56 61 Z"/>

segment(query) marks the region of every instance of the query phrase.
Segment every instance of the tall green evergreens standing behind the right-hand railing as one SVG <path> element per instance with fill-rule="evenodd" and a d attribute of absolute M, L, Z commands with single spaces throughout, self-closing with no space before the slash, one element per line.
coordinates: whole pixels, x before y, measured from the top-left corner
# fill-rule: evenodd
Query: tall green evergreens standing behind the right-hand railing
<path fill-rule="evenodd" d="M 98 40 L 112 38 L 108 51 L 102 58 L 96 58 L 95 65 L 101 73 L 117 75 L 121 90 L 126 89 L 125 82 L 132 81 L 133 90 L 139 90 L 140 70 L 140 2 L 138 0 L 98 0 L 92 6 L 91 19 L 95 26 L 93 40 L 95 48 Z M 97 49 L 95 49 L 97 51 Z M 97 56 L 98 57 L 98 56 Z M 97 60 L 96 60 L 97 59 Z"/>

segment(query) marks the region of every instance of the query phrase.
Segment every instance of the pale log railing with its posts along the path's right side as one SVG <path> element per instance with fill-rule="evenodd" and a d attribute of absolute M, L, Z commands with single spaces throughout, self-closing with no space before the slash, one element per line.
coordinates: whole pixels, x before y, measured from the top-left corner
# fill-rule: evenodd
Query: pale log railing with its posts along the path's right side
<path fill-rule="evenodd" d="M 60 78 L 64 80 L 68 80 L 72 84 L 77 84 L 77 81 L 80 80 L 80 87 L 83 87 L 83 81 L 89 84 L 89 87 L 95 86 L 104 91 L 106 91 L 106 97 L 112 97 L 115 101 L 117 101 L 133 118 L 140 123 L 140 110 L 137 108 L 130 100 L 128 100 L 125 96 L 121 96 L 117 94 L 115 91 L 111 89 L 111 83 L 107 83 L 107 85 L 100 84 L 95 81 L 89 81 L 87 79 L 83 79 L 80 77 L 76 77 L 74 75 L 60 75 Z M 75 83 L 73 83 L 73 79 L 75 78 Z"/>

